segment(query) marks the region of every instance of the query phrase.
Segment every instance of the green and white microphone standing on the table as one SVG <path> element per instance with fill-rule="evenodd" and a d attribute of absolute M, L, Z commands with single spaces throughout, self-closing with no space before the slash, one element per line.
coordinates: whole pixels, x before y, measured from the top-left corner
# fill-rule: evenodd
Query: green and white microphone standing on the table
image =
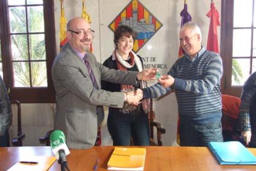
<path fill-rule="evenodd" d="M 50 144 L 58 163 L 61 164 L 61 171 L 65 170 L 67 168 L 66 155 L 70 154 L 70 151 L 67 148 L 64 133 L 60 130 L 53 131 L 50 135 Z"/>

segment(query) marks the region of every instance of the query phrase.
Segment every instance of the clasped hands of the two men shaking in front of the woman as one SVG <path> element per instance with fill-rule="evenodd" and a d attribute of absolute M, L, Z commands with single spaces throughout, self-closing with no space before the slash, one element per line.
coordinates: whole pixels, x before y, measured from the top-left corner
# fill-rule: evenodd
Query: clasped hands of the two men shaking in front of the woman
<path fill-rule="evenodd" d="M 125 92 L 125 101 L 130 105 L 139 105 L 143 98 L 143 92 L 140 89 Z"/>

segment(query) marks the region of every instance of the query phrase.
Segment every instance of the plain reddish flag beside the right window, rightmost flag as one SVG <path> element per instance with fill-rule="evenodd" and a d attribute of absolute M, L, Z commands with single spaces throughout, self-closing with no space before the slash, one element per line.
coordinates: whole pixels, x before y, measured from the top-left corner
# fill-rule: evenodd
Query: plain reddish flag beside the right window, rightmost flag
<path fill-rule="evenodd" d="M 214 3 L 211 3 L 211 9 L 206 15 L 211 19 L 208 32 L 207 50 L 219 53 L 217 26 L 220 26 L 220 21 L 219 12 L 215 8 Z"/>

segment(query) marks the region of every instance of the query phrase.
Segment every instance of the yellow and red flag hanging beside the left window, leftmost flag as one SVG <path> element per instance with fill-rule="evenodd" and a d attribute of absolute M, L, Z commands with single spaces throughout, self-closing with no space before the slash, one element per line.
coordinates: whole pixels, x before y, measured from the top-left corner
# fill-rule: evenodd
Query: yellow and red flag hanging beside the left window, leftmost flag
<path fill-rule="evenodd" d="M 60 0 L 60 8 L 61 8 L 61 11 L 60 11 L 61 12 L 61 15 L 60 15 L 60 51 L 61 51 L 61 48 L 67 43 L 67 37 L 66 37 L 67 20 L 65 19 L 63 0 Z"/>

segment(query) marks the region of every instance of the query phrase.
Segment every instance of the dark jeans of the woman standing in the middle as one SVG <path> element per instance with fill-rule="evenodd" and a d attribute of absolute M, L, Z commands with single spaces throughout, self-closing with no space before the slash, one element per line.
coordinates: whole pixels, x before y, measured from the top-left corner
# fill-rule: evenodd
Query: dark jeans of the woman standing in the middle
<path fill-rule="evenodd" d="M 148 116 L 142 110 L 128 114 L 109 113 L 108 131 L 114 146 L 130 146 L 131 136 L 136 146 L 149 146 Z"/>

